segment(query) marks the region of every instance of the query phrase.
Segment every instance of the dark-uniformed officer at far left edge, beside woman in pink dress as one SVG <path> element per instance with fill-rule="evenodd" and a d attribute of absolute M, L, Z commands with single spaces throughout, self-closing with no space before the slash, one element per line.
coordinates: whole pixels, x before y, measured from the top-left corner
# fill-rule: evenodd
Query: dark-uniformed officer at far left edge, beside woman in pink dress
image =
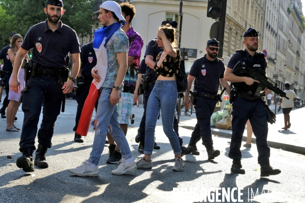
<path fill-rule="evenodd" d="M 12 37 L 16 35 L 16 32 L 11 33 L 10 35 L 10 41 L 12 39 Z M 6 97 L 3 101 L 3 107 L 0 109 L 0 113 L 1 113 L 1 118 L 6 118 L 5 115 L 5 110 L 8 107 L 10 100 L 8 99 L 9 97 L 9 90 L 10 90 L 10 84 L 9 84 L 9 80 L 10 77 L 12 75 L 12 71 L 13 71 L 13 65 L 12 62 L 9 58 L 9 54 L 8 54 L 8 50 L 11 48 L 11 45 L 8 45 L 4 48 L 2 48 L 2 50 L 0 51 L 0 60 L 3 59 L 4 63 L 3 63 L 3 73 L 2 73 L 2 77 L 3 78 L 3 83 L 4 83 L 4 87 L 5 87 L 5 92 L 6 92 Z M 1 100 L 1 98 L 0 98 Z M 17 117 L 15 117 L 15 120 L 17 120 Z"/>

